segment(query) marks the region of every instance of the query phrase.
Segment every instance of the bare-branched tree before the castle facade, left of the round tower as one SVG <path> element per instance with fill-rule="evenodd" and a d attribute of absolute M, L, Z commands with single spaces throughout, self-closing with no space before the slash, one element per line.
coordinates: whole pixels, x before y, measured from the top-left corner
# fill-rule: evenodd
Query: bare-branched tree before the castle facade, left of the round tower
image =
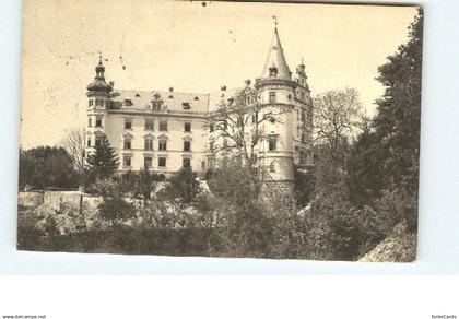
<path fill-rule="evenodd" d="M 223 91 L 225 87 L 223 87 Z M 285 106 L 268 106 L 260 102 L 259 92 L 246 81 L 243 88 L 227 99 L 221 101 L 209 123 L 214 139 L 211 146 L 214 155 L 239 157 L 244 165 L 252 168 L 257 164 L 257 147 L 267 139 L 264 122 L 280 122 Z"/>

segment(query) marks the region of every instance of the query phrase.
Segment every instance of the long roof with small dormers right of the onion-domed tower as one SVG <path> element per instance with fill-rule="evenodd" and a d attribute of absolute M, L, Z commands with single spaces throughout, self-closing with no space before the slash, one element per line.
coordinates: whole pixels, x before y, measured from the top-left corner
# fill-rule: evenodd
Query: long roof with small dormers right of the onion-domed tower
<path fill-rule="evenodd" d="M 209 94 L 202 93 L 115 90 L 113 101 L 114 108 L 121 109 L 152 109 L 152 101 L 162 101 L 162 109 L 168 111 L 209 111 Z"/>

